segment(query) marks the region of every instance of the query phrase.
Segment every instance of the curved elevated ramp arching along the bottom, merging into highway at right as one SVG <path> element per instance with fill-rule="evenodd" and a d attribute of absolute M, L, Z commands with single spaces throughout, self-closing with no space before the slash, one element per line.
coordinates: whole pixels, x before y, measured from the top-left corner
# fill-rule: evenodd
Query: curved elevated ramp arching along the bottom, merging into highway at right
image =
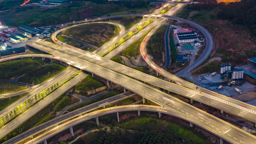
<path fill-rule="evenodd" d="M 85 107 L 86 108 L 86 107 Z M 88 109 L 88 108 L 87 108 Z M 191 117 L 190 113 L 181 113 L 175 109 L 172 108 L 163 108 L 159 106 L 147 106 L 147 105 L 127 105 L 127 106 L 118 106 L 118 107 L 112 107 L 112 108 L 104 108 L 100 109 L 91 113 L 79 113 L 79 112 L 71 112 L 68 113 L 70 117 L 68 117 L 68 114 L 61 116 L 62 120 L 59 118 L 57 120 L 50 120 L 47 123 L 44 123 L 40 126 L 37 126 L 34 129 L 31 129 L 22 135 L 24 137 L 33 137 L 36 133 L 43 132 L 46 129 L 51 129 L 47 132 L 42 133 L 41 135 L 33 138 L 32 140 L 26 142 L 25 144 L 38 144 L 40 142 L 46 141 L 48 138 L 52 137 L 53 135 L 62 132 L 68 128 L 72 128 L 74 125 L 79 124 L 81 122 L 84 122 L 86 120 L 94 119 L 102 115 L 110 114 L 110 113 L 118 113 L 122 111 L 153 111 L 158 112 L 159 117 L 161 116 L 161 113 L 172 115 L 178 118 L 181 118 L 183 120 L 187 120 L 192 122 L 193 124 L 199 125 L 199 127 L 207 130 L 208 132 L 218 133 L 217 136 L 221 137 L 222 139 L 232 143 L 232 144 L 254 144 L 256 141 L 256 137 L 251 137 L 249 133 L 244 133 L 243 130 L 240 130 L 236 127 L 230 127 L 229 123 L 221 120 L 222 123 L 225 123 L 223 126 L 219 126 L 218 123 L 211 123 L 209 120 L 207 120 L 207 117 L 201 116 L 201 110 L 196 111 L 197 115 L 195 118 L 198 120 L 194 120 L 194 117 Z M 186 114 L 187 113 L 187 114 Z M 64 118 L 64 120 L 63 120 Z M 59 125 L 58 125 L 59 124 Z M 222 130 L 224 129 L 224 130 Z M 219 131 L 221 131 L 219 133 Z M 241 134 L 241 132 L 243 134 Z M 31 134 L 33 133 L 33 134 Z M 241 134 L 241 135 L 240 135 Z M 13 144 L 11 142 L 18 142 L 19 138 L 20 140 L 23 140 L 22 135 L 19 135 L 12 139 L 11 141 L 8 141 L 4 144 Z M 221 139 L 221 140 L 222 140 Z M 15 141 L 16 140 L 16 141 Z"/>

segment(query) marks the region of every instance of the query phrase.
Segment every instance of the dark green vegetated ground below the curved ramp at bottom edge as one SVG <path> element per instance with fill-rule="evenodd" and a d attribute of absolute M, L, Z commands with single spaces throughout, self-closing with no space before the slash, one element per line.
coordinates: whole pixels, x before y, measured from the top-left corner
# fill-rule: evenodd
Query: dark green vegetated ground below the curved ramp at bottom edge
<path fill-rule="evenodd" d="M 107 121 L 110 131 L 107 132 L 107 129 L 104 129 L 91 132 L 77 141 L 90 144 L 102 144 L 103 142 L 106 144 L 212 144 L 195 128 L 173 121 L 140 116 L 122 120 L 122 123 L 118 124 L 113 118 L 106 119 L 106 117 L 99 117 L 99 120 L 102 123 Z"/>

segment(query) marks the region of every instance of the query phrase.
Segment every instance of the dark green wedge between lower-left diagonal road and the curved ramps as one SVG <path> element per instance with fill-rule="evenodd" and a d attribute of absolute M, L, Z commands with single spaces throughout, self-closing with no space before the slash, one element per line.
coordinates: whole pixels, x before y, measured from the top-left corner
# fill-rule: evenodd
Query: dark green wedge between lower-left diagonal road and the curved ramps
<path fill-rule="evenodd" d="M 47 105 L 45 108 L 43 108 L 39 112 L 37 112 L 37 114 L 35 114 L 31 118 L 29 118 L 28 120 L 24 121 L 21 125 L 19 125 L 17 128 L 12 130 L 12 132 L 10 132 L 9 134 L 7 134 L 3 138 L 1 138 L 0 143 L 6 142 L 6 141 L 12 139 L 13 137 L 21 134 L 22 132 L 25 132 L 25 131 L 31 129 L 32 127 L 37 125 L 38 122 L 40 122 L 44 118 L 48 117 L 49 113 L 54 111 L 55 106 L 61 101 L 61 99 L 63 99 L 64 96 L 65 96 L 65 94 L 62 94 L 61 96 L 56 98 L 53 102 L 51 102 L 49 105 Z M 52 117 L 48 118 L 48 120 L 54 119 L 54 116 L 55 115 L 52 115 Z M 46 121 L 47 120 L 45 120 L 45 122 Z M 40 122 L 40 124 L 43 122 L 44 121 Z"/>

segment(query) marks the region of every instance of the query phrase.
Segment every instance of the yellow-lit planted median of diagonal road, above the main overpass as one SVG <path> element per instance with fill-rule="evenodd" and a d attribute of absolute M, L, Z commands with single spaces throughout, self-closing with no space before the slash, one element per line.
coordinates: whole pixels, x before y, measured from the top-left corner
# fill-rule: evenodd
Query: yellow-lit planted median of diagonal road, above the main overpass
<path fill-rule="evenodd" d="M 118 39 L 114 44 L 112 44 L 110 46 L 110 50 L 108 50 L 107 52 L 105 52 L 104 54 L 101 55 L 101 57 L 106 56 L 107 54 L 109 54 L 111 51 L 113 51 L 115 48 L 119 47 L 122 43 L 124 43 L 125 41 L 127 41 L 128 39 L 130 39 L 131 37 L 133 37 L 134 35 L 136 35 L 138 32 L 140 32 L 142 29 L 144 29 L 147 25 L 151 24 L 152 22 L 154 22 L 155 19 L 150 18 L 148 21 L 144 22 L 143 24 L 140 24 L 138 27 L 134 28 L 131 32 L 129 32 L 128 34 L 122 36 L 120 39 Z"/>

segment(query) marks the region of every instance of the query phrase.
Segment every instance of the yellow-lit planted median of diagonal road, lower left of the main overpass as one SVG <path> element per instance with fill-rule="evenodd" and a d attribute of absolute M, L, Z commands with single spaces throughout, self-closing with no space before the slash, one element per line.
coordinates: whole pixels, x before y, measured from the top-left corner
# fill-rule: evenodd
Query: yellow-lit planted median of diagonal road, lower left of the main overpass
<path fill-rule="evenodd" d="M 46 96 L 49 96 L 51 93 L 56 91 L 62 85 L 66 84 L 68 81 L 73 79 L 76 75 L 78 75 L 80 72 L 75 72 L 75 74 L 73 74 L 68 79 L 61 82 L 61 84 L 56 83 L 56 84 L 49 86 L 48 88 L 45 88 L 37 95 L 28 98 L 22 104 L 20 104 L 16 108 L 13 108 L 10 112 L 8 112 L 5 115 L 3 115 L 2 117 L 0 117 L 0 127 L 3 127 L 5 124 L 7 124 L 11 120 L 14 120 L 16 117 L 18 117 L 19 115 L 24 113 L 27 109 L 32 108 L 35 104 L 37 104 L 39 101 L 44 99 Z"/>

